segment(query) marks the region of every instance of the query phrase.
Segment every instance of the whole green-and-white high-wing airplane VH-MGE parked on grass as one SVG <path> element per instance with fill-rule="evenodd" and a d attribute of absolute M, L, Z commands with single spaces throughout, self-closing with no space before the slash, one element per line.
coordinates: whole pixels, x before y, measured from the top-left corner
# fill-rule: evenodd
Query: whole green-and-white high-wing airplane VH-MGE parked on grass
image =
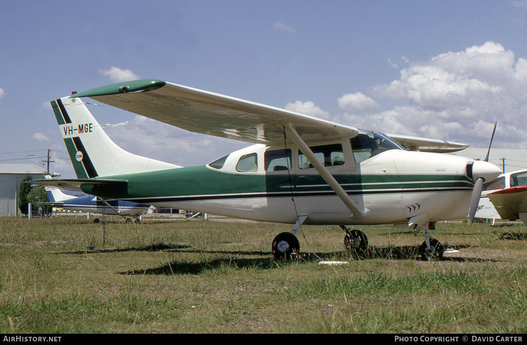
<path fill-rule="evenodd" d="M 205 166 L 179 167 L 128 153 L 82 97 L 196 133 L 252 143 Z M 78 179 L 32 184 L 80 188 L 126 200 L 257 221 L 294 224 L 272 241 L 276 258 L 298 253 L 302 225 L 339 225 L 349 248 L 367 238 L 349 225 L 425 230 L 423 255 L 441 256 L 428 224 L 475 208 L 500 169 L 443 155 L 467 145 L 386 135 L 155 79 L 98 87 L 51 102 Z"/>

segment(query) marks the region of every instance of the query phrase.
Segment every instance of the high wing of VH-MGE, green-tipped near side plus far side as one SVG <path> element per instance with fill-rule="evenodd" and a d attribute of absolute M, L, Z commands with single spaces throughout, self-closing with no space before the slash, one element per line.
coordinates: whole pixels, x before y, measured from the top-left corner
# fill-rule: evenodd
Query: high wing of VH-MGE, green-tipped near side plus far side
<path fill-rule="evenodd" d="M 358 133 L 355 127 L 156 79 L 97 87 L 71 97 L 90 97 L 175 127 L 253 144 L 283 144 L 287 123 L 291 123 L 306 143 L 351 138 Z M 443 140 L 389 136 L 409 150 L 445 153 L 468 146 Z"/>

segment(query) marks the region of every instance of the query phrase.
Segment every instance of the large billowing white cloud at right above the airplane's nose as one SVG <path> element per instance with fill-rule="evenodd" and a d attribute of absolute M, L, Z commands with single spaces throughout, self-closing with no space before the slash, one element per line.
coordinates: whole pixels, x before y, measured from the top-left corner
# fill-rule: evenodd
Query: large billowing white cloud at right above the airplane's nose
<path fill-rule="evenodd" d="M 391 97 L 405 105 L 363 115 L 361 120 L 365 128 L 375 126 L 388 133 L 453 140 L 474 147 L 489 145 L 497 120 L 496 147 L 524 148 L 525 89 L 527 60 L 516 60 L 512 50 L 486 42 L 426 61 L 408 61 L 398 79 L 371 90 L 374 97 Z"/>

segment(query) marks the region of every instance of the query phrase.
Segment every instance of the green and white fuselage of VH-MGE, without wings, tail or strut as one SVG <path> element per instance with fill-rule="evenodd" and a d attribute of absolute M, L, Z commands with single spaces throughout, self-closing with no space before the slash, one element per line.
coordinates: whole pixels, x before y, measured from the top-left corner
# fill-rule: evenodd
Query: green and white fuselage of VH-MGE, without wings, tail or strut
<path fill-rule="evenodd" d="M 369 225 L 407 224 L 419 215 L 428 222 L 468 214 L 474 182 L 467 165 L 472 159 L 366 146 L 356 138 L 309 145 L 355 204 L 369 211 L 364 218 L 350 217 L 344 202 L 294 145 L 253 145 L 206 166 L 105 176 L 128 181 L 128 188 L 83 190 L 104 198 L 289 224 L 300 215 L 308 216 L 305 224 Z"/>

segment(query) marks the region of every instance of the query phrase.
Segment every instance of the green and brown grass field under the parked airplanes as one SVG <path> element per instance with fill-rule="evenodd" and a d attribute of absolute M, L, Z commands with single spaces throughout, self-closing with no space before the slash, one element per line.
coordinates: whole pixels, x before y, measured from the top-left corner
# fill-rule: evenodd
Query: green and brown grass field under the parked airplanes
<path fill-rule="evenodd" d="M 115 220 L 103 243 L 81 218 L 0 218 L 0 332 L 527 332 L 523 224 L 438 223 L 459 250 L 439 261 L 415 258 L 410 231 L 356 228 L 366 257 L 340 228 L 304 226 L 301 258 L 277 262 L 289 226 Z"/>

